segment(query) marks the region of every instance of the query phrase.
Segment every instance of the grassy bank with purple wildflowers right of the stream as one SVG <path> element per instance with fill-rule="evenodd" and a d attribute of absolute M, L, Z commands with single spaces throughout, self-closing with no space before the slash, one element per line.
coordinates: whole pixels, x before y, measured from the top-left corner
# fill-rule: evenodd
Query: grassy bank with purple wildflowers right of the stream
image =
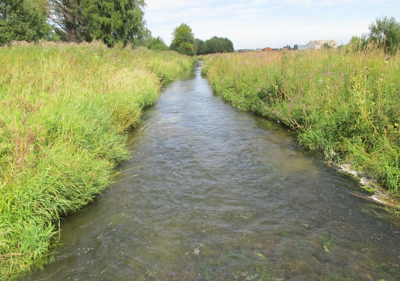
<path fill-rule="evenodd" d="M 306 147 L 400 192 L 400 54 L 315 50 L 220 54 L 203 74 L 232 105 L 286 124 Z"/>

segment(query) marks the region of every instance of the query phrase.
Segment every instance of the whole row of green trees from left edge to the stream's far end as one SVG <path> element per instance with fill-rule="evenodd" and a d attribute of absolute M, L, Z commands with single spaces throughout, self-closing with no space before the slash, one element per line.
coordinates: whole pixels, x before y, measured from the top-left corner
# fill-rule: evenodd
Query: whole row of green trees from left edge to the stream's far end
<path fill-rule="evenodd" d="M 194 38 L 187 24 L 174 29 L 168 47 L 160 36 L 153 37 L 146 28 L 145 7 L 144 0 L 1 0 L 0 46 L 14 40 L 100 40 L 109 47 L 130 44 L 190 56 L 234 51 L 228 38 Z"/>

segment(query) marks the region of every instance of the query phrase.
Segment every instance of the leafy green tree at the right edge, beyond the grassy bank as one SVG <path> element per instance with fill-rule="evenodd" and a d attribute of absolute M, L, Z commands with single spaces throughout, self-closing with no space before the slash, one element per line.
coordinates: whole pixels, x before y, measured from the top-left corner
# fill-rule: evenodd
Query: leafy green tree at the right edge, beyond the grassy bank
<path fill-rule="evenodd" d="M 369 42 L 377 42 L 387 52 L 395 54 L 400 46 L 400 22 L 396 21 L 394 17 L 376 18 L 368 27 L 370 33 L 368 34 Z"/>

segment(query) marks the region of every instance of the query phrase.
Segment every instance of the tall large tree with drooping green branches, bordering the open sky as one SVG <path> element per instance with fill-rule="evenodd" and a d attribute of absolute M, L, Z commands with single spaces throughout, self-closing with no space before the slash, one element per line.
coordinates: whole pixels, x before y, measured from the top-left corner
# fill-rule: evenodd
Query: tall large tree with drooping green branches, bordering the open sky
<path fill-rule="evenodd" d="M 72 42 L 136 44 L 145 31 L 144 0 L 48 0 L 51 20 Z"/>

